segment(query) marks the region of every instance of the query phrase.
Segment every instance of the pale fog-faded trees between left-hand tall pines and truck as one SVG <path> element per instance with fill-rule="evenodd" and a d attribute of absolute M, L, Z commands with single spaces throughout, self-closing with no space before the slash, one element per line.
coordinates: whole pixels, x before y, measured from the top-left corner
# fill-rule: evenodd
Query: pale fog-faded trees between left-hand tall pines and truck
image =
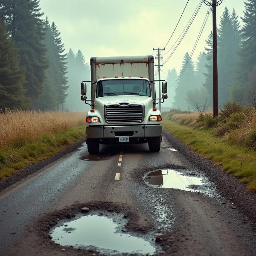
<path fill-rule="evenodd" d="M 66 108 L 69 111 L 84 111 L 89 109 L 88 105 L 80 100 L 81 96 L 81 81 L 90 81 L 90 68 L 84 60 L 84 55 L 80 50 L 76 54 L 69 50 L 67 54 L 67 71 L 68 71 L 68 84 Z M 91 99 L 90 83 L 87 83 L 87 97 Z"/>

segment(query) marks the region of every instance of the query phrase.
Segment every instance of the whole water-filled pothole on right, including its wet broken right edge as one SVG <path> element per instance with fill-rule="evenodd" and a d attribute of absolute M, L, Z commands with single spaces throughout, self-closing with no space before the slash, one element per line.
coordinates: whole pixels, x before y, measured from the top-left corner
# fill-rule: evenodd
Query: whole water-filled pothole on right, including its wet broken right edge
<path fill-rule="evenodd" d="M 196 177 L 192 170 L 164 169 L 148 172 L 144 176 L 145 183 L 162 189 L 181 189 L 190 192 L 201 192 L 207 195 L 212 194 L 214 189 L 206 177 Z"/>

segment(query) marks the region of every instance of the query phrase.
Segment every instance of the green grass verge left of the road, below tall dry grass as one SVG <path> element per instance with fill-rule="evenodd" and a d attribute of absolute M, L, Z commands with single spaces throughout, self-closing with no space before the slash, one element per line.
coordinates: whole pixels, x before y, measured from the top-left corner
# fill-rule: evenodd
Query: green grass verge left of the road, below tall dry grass
<path fill-rule="evenodd" d="M 0 148 L 0 179 L 8 177 L 26 164 L 35 163 L 57 154 L 68 145 L 84 137 L 85 126 L 68 131 L 44 134 L 32 141 L 16 141 L 12 146 Z"/>

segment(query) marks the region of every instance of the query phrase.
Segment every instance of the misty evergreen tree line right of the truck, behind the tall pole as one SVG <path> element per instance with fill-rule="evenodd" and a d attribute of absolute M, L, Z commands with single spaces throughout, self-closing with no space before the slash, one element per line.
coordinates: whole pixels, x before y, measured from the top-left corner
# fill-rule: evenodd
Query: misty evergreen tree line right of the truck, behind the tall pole
<path fill-rule="evenodd" d="M 241 27 L 235 10 L 230 13 L 227 7 L 221 16 L 218 28 L 218 96 L 219 104 L 239 102 L 251 103 L 256 97 L 256 2 L 244 2 L 244 25 Z M 172 107 L 188 110 L 195 103 L 212 106 L 212 32 L 206 40 L 205 51 L 201 52 L 196 63 L 186 52 L 183 58 L 179 79 L 173 79 L 176 70 L 169 71 L 167 81 L 174 84 Z M 177 72 L 176 72 L 177 73 Z M 175 84 L 175 81 L 176 84 Z"/>

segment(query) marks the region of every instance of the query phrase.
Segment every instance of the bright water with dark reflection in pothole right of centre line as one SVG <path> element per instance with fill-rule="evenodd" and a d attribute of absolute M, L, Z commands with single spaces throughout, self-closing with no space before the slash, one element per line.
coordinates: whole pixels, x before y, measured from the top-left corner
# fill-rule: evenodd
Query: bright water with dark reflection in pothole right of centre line
<path fill-rule="evenodd" d="M 191 176 L 193 175 L 193 176 Z M 189 176 L 183 175 L 182 172 L 166 169 L 150 172 L 145 177 L 149 185 L 163 189 L 181 189 L 192 192 L 202 192 L 200 186 L 204 185 L 201 177 L 194 177 L 195 173 L 191 172 Z"/>

